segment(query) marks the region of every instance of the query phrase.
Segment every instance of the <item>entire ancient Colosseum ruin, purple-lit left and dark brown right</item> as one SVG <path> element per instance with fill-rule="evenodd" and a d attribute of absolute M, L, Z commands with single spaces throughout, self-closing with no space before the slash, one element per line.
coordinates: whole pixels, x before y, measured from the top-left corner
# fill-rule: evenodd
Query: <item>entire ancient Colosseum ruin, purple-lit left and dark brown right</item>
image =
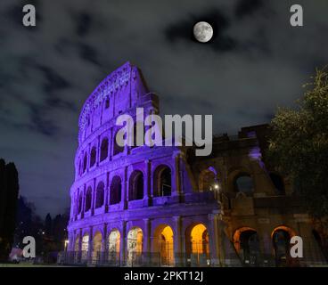
<path fill-rule="evenodd" d="M 106 77 L 79 117 L 65 263 L 108 266 L 292 266 L 324 263 L 320 233 L 288 177 L 266 162 L 268 127 L 195 147 L 120 147 L 120 114 L 159 114 L 141 70 Z M 215 114 L 214 114 L 215 116 Z M 137 124 L 137 123 L 136 123 Z M 291 237 L 304 256 L 292 258 Z"/>

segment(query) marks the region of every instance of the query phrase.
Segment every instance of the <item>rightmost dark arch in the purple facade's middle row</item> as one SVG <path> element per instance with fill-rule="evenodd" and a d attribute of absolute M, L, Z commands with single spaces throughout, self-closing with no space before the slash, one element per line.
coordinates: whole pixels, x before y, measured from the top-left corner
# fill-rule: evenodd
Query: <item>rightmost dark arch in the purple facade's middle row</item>
<path fill-rule="evenodd" d="M 153 175 L 155 197 L 170 196 L 172 193 L 172 170 L 167 165 L 156 167 Z"/>

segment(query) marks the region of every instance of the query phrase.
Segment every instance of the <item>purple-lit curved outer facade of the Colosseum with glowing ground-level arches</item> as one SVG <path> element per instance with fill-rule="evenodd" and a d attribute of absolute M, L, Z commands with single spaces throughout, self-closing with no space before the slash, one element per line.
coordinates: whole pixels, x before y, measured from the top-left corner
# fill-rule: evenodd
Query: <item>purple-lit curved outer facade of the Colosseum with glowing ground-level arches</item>
<path fill-rule="evenodd" d="M 116 118 L 135 118 L 136 107 L 143 107 L 144 117 L 158 114 L 159 100 L 128 62 L 106 77 L 83 107 L 70 189 L 69 250 L 78 262 L 176 265 L 198 247 L 197 262 L 216 263 L 209 253 L 216 252 L 212 232 L 219 204 L 213 192 L 193 191 L 187 149 L 121 148 L 115 142 Z M 185 240 L 184 232 L 190 235 L 195 226 L 199 240 Z"/>

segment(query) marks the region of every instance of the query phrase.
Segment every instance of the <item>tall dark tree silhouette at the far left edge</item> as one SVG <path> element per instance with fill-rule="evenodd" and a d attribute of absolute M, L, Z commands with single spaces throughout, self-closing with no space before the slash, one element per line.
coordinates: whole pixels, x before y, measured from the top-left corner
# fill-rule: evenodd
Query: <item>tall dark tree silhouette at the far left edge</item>
<path fill-rule="evenodd" d="M 4 159 L 0 159 L 0 261 L 7 260 L 12 249 L 18 192 L 15 165 L 5 164 Z"/>

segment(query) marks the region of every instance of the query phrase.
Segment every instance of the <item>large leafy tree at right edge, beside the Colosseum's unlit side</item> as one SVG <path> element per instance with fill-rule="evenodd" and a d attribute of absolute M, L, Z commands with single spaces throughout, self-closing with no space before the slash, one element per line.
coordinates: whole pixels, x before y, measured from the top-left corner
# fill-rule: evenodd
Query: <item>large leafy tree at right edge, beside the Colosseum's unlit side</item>
<path fill-rule="evenodd" d="M 328 72 L 316 69 L 294 110 L 278 109 L 271 122 L 268 157 L 291 178 L 308 212 L 328 216 Z"/>

